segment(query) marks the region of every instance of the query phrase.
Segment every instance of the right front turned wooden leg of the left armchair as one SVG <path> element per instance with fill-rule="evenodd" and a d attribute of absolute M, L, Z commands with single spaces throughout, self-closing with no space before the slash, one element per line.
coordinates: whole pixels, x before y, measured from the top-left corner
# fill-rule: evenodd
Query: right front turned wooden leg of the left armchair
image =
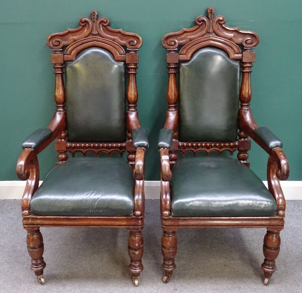
<path fill-rule="evenodd" d="M 141 230 L 131 230 L 128 238 L 128 253 L 130 257 L 129 269 L 132 274 L 133 284 L 138 286 L 139 275 L 143 270 L 141 258 L 143 255 L 143 238 Z"/>

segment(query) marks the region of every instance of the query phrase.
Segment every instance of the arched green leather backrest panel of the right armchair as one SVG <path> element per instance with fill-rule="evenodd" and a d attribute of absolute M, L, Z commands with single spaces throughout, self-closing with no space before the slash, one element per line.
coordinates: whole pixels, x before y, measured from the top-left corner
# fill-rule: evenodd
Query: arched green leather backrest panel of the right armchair
<path fill-rule="evenodd" d="M 180 63 L 179 140 L 237 139 L 240 62 L 224 51 L 201 48 Z"/>

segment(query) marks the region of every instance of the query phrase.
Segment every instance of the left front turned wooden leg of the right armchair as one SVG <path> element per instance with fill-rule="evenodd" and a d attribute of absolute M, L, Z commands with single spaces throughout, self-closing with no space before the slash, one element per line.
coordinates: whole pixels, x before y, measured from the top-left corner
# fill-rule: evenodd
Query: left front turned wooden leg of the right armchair
<path fill-rule="evenodd" d="M 162 236 L 162 254 L 163 269 L 165 271 L 165 276 L 163 277 L 163 282 L 168 283 L 171 278 L 175 265 L 175 256 L 177 252 L 177 238 L 175 231 L 163 231 Z"/>

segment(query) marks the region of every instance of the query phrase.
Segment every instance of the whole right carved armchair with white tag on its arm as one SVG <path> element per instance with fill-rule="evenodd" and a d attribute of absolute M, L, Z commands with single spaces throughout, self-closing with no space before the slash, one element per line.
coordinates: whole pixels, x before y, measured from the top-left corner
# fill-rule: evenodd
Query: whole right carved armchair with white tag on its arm
<path fill-rule="evenodd" d="M 267 128 L 257 126 L 250 110 L 252 49 L 259 38 L 224 23 L 223 16 L 214 18 L 210 7 L 208 16 L 197 17 L 193 28 L 166 34 L 162 40 L 169 51 L 169 108 L 158 145 L 164 282 L 176 267 L 175 231 L 179 228 L 267 228 L 264 284 L 276 270 L 285 216 L 279 180 L 288 178 L 288 162 L 282 143 Z M 268 190 L 249 169 L 248 137 L 269 155 Z M 238 160 L 209 155 L 224 151 L 233 155 L 236 150 Z M 185 157 L 187 152 L 205 152 L 206 156 Z"/>

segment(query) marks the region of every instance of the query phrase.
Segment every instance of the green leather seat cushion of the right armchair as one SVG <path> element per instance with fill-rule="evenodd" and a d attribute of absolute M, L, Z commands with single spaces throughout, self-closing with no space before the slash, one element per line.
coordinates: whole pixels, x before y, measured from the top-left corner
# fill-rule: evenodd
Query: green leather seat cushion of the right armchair
<path fill-rule="evenodd" d="M 184 157 L 173 168 L 171 209 L 179 217 L 274 216 L 277 204 L 239 160 Z"/>

